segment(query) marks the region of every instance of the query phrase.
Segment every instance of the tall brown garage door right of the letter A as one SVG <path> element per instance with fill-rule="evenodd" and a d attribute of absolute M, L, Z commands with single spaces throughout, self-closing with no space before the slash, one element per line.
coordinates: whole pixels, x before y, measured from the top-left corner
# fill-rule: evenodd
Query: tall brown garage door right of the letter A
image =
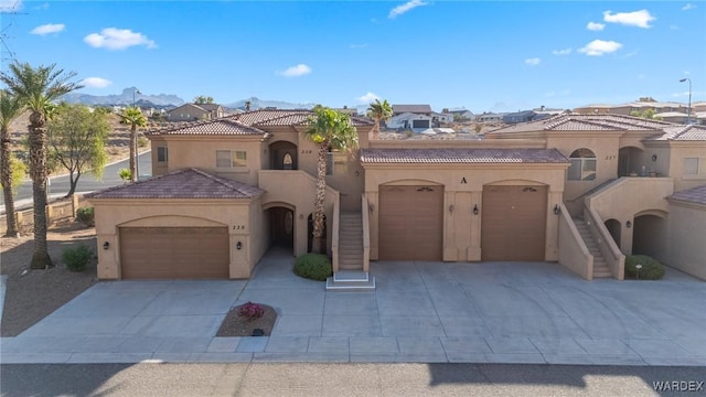
<path fill-rule="evenodd" d="M 544 260 L 546 186 L 484 186 L 482 260 Z"/>

